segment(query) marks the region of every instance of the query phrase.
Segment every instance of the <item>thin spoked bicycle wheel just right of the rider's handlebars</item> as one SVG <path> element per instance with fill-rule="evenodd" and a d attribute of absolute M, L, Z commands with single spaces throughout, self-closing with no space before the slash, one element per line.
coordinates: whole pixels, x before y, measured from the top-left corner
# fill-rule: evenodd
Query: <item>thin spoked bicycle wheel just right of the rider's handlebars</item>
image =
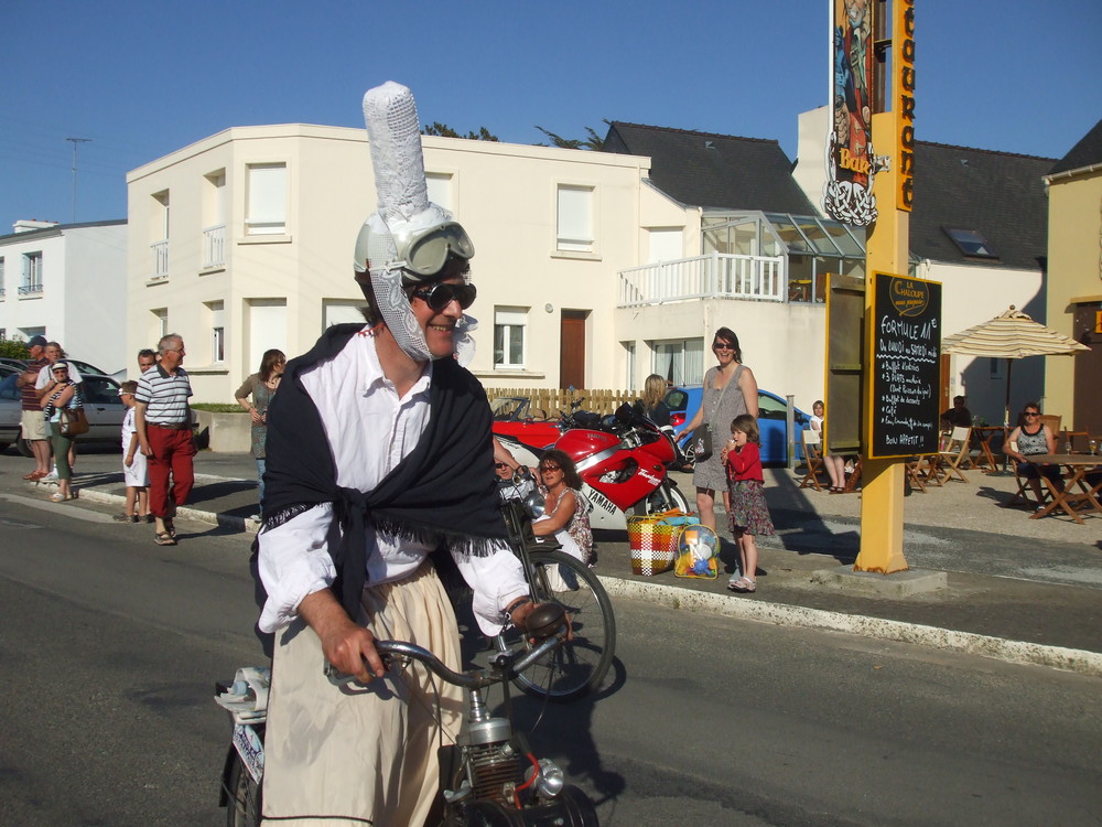
<path fill-rule="evenodd" d="M 616 652 L 616 620 L 604 587 L 590 567 L 562 551 L 531 554 L 532 597 L 565 608 L 573 640 L 518 675 L 529 695 L 554 701 L 580 698 L 604 680 Z"/>

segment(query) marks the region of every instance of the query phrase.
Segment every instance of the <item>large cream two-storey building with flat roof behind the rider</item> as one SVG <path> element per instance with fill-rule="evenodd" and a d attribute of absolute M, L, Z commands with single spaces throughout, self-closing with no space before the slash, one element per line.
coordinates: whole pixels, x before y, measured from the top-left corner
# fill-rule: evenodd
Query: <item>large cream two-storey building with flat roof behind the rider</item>
<path fill-rule="evenodd" d="M 423 138 L 430 197 L 471 234 L 472 369 L 487 386 L 620 387 L 617 271 L 694 213 L 647 159 Z M 196 401 L 229 401 L 262 353 L 293 356 L 357 316 L 356 235 L 375 210 L 364 130 L 237 127 L 127 176 L 128 351 L 183 335 Z M 645 374 L 644 374 L 645 375 Z"/>

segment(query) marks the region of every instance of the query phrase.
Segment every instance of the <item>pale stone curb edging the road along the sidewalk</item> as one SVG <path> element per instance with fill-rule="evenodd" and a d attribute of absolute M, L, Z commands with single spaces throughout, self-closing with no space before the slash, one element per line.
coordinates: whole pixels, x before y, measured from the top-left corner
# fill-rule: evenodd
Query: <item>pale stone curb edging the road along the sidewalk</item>
<path fill-rule="evenodd" d="M 108 494 L 94 488 L 80 488 L 77 498 L 107 504 L 126 502 L 126 497 L 119 494 Z M 247 534 L 256 534 L 259 527 L 251 519 L 214 514 L 198 508 L 180 508 L 176 516 L 207 525 L 236 528 Z M 1091 677 L 1102 677 L 1102 653 L 1087 649 L 1047 646 L 1040 643 L 1012 641 L 1006 637 L 992 637 L 973 632 L 958 632 L 937 626 L 923 626 L 918 623 L 904 623 L 860 614 L 843 614 L 786 603 L 738 600 L 727 594 L 699 592 L 665 583 L 641 583 L 637 580 L 622 580 L 608 576 L 598 576 L 597 579 L 612 597 L 644 600 L 668 609 L 683 609 L 722 617 L 771 623 L 777 626 L 841 632 L 880 641 L 912 643 L 936 649 L 980 655 L 1007 663 L 1046 666 Z"/>

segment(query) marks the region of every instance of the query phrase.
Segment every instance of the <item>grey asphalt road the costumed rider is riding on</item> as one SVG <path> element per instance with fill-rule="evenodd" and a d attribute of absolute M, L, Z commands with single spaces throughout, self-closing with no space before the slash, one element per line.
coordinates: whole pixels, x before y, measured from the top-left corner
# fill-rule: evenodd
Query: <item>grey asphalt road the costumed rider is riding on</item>
<path fill-rule="evenodd" d="M 256 663 L 248 538 L 0 491 L 0 824 L 216 825 L 213 681 Z M 1095 678 L 617 603 L 597 699 L 542 709 L 606 825 L 1096 825 Z"/>

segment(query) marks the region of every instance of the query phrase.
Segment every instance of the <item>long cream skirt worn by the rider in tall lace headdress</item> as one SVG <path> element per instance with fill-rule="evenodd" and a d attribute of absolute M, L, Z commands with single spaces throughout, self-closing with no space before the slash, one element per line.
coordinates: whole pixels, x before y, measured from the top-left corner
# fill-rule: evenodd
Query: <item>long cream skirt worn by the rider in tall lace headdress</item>
<path fill-rule="evenodd" d="M 415 643 L 460 669 L 455 615 L 428 561 L 406 580 L 365 589 L 361 604 L 359 622 L 376 638 Z M 423 825 L 440 784 L 436 751 L 455 741 L 463 690 L 430 681 L 419 664 L 366 687 L 335 687 L 323 665 L 304 622 L 278 633 L 261 824 Z"/>

